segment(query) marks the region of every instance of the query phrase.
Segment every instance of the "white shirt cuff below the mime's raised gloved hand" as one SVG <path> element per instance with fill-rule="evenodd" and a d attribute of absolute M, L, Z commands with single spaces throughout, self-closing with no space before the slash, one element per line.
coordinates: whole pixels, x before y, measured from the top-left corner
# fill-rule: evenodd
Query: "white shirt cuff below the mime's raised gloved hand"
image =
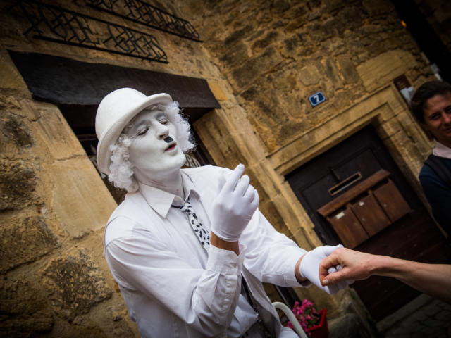
<path fill-rule="evenodd" d="M 240 256 L 230 250 L 219 249 L 214 245 L 209 247 L 209 259 L 206 269 L 225 275 L 239 275 L 242 267 L 242 253 Z"/>

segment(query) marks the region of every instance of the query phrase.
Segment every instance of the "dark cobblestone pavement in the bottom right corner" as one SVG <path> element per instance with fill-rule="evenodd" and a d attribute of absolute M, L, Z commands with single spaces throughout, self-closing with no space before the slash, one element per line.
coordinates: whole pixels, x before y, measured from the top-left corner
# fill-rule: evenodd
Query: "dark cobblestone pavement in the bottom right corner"
<path fill-rule="evenodd" d="M 383 338 L 451 338 L 451 304 L 422 294 L 377 326 Z"/>

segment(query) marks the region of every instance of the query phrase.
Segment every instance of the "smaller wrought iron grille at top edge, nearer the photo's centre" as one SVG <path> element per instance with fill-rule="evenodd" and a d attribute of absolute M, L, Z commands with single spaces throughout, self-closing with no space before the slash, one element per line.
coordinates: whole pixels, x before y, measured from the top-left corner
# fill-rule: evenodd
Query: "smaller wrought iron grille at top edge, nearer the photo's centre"
<path fill-rule="evenodd" d="M 189 21 L 178 18 L 142 0 L 86 0 L 87 5 L 125 20 L 131 20 L 178 37 L 202 42 Z"/>

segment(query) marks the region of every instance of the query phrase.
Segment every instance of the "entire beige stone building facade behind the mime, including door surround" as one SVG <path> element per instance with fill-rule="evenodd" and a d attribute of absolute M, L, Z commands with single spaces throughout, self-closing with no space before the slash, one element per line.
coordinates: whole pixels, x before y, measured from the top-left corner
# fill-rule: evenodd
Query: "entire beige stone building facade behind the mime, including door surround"
<path fill-rule="evenodd" d="M 194 123 L 199 139 L 217 165 L 246 165 L 261 211 L 305 249 L 321 241 L 284 175 L 365 125 L 421 196 L 431 144 L 393 79 L 418 87 L 433 75 L 390 1 L 149 1 L 189 20 L 203 42 L 85 1 L 46 2 L 154 35 L 168 63 L 34 39 L 20 11 L 0 4 L 1 337 L 139 337 L 104 261 L 116 203 L 58 107 L 32 99 L 8 50 L 205 79 L 221 108 Z M 307 97 L 320 89 L 327 100 L 312 108 Z M 359 308 L 348 291 L 296 292 L 330 318 Z"/>

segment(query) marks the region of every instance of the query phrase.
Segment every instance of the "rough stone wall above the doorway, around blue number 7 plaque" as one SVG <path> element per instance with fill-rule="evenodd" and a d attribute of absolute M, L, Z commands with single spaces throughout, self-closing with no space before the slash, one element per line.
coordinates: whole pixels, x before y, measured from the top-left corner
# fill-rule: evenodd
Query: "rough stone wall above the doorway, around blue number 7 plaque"
<path fill-rule="evenodd" d="M 414 85 L 430 76 L 390 1 L 192 1 L 190 9 L 267 155 L 398 75 Z M 312 108 L 307 97 L 319 89 L 327 103 Z"/>

